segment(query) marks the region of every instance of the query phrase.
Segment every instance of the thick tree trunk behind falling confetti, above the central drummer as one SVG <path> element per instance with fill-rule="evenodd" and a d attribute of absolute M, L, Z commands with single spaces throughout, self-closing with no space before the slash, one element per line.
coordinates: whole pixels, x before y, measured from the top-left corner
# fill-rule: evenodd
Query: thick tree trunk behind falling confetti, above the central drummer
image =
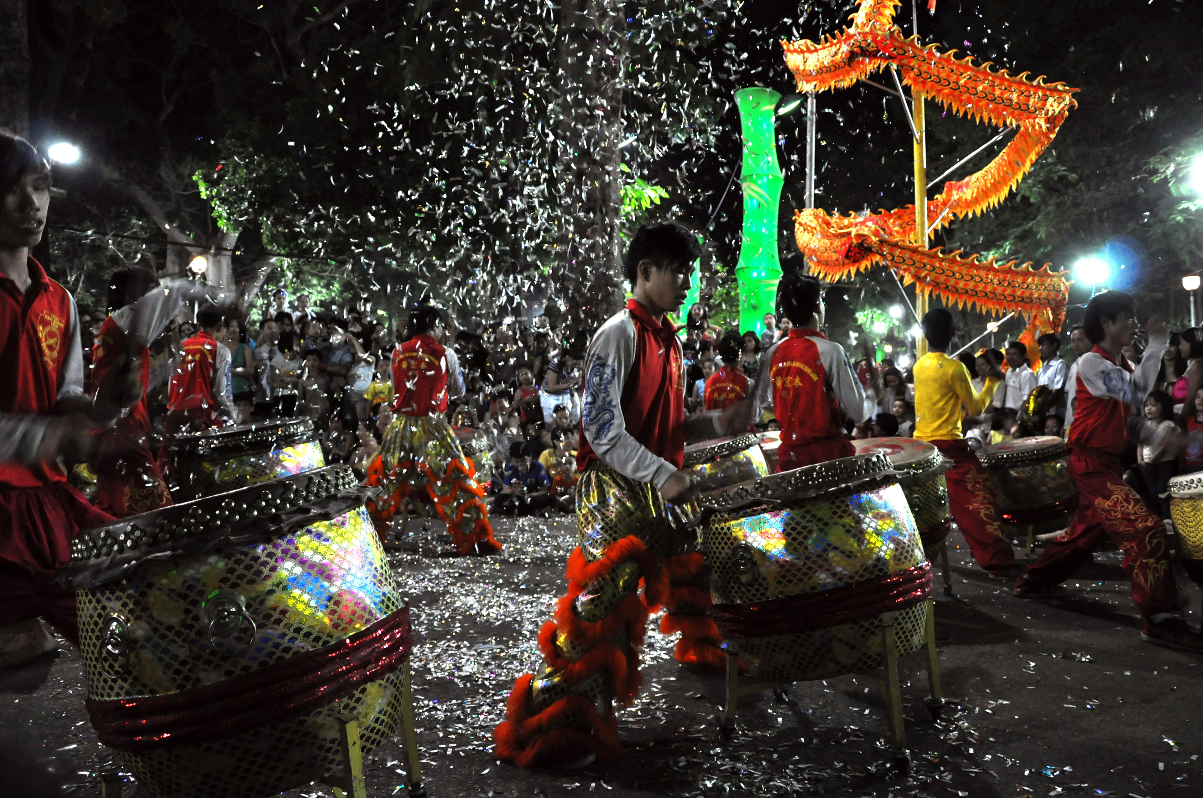
<path fill-rule="evenodd" d="M 592 332 L 623 302 L 620 153 L 626 24 L 616 0 L 564 0 L 558 77 L 556 284 Z"/>

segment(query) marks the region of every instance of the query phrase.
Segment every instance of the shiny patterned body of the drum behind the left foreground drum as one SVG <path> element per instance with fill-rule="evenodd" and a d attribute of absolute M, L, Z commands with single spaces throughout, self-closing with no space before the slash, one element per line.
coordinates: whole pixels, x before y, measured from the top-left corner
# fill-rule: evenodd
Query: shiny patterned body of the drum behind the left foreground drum
<path fill-rule="evenodd" d="M 171 495 L 212 496 L 326 465 L 310 418 L 220 427 L 171 443 Z"/>

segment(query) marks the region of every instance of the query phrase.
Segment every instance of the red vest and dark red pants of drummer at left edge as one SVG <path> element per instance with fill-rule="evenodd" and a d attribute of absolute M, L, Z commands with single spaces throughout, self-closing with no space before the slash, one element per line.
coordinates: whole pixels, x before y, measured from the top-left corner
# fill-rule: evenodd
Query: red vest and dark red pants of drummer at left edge
<path fill-rule="evenodd" d="M 54 461 L 36 461 L 48 416 L 83 398 L 75 299 L 29 258 L 22 293 L 0 278 L 0 626 L 38 615 L 78 642 L 75 595 L 52 582 L 81 529 L 113 520 L 67 484 Z"/>

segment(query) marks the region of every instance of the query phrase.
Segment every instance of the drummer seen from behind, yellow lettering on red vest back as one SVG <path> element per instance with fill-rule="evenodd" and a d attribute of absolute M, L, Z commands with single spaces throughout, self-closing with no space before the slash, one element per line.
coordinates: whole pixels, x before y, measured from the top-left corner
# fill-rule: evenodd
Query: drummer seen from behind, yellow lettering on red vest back
<path fill-rule="evenodd" d="M 864 419 L 865 392 L 843 347 L 819 332 L 824 314 L 818 279 L 799 273 L 782 278 L 777 316 L 793 327 L 765 355 L 769 365 L 757 382 L 758 407 L 772 410 L 781 423 L 778 471 L 857 453 L 840 411 L 853 422 Z"/>

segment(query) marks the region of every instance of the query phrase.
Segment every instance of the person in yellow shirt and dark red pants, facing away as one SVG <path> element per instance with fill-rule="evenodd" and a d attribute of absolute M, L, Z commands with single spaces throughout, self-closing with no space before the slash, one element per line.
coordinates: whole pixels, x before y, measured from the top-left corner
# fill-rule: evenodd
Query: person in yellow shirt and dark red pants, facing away
<path fill-rule="evenodd" d="M 979 416 L 990 404 L 1002 373 L 991 359 L 982 391 L 973 391 L 968 369 L 947 355 L 956 330 L 953 315 L 936 308 L 924 315 L 921 323 L 930 351 L 914 364 L 914 436 L 930 442 L 953 463 L 944 474 L 948 505 L 973 559 L 991 578 L 1015 579 L 1020 568 L 1011 541 L 998 525 L 989 478 L 961 435 L 961 405 L 970 416 Z"/>

